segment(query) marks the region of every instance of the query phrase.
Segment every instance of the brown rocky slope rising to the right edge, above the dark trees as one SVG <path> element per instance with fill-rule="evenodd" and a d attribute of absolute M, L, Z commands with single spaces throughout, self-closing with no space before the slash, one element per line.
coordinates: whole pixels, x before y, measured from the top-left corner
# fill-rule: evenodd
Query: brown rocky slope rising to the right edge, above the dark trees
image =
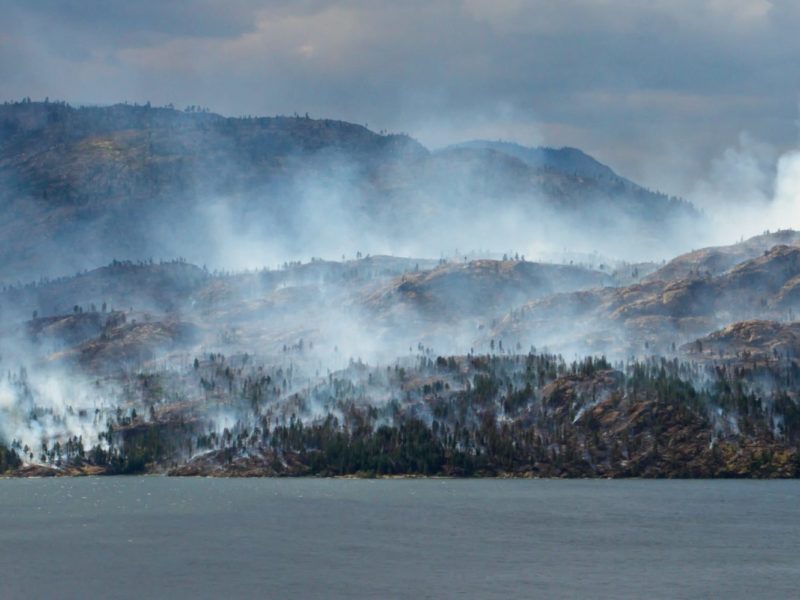
<path fill-rule="evenodd" d="M 787 239 L 782 232 L 771 239 Z M 664 352 L 736 321 L 792 319 L 800 309 L 800 246 L 776 245 L 756 253 L 764 236 L 738 246 L 695 254 L 658 277 L 618 288 L 576 291 L 532 300 L 507 313 L 491 336 L 507 342 L 571 344 L 596 352 Z M 718 257 L 752 256 L 733 266 Z M 720 273 L 697 273 L 688 264 L 724 264 Z M 717 258 L 714 258 L 717 257 Z M 726 259 L 727 260 L 727 259 Z M 669 267 L 669 265 L 667 265 Z M 684 276 L 684 268 L 689 275 Z M 674 279 L 664 279 L 671 272 Z"/>

